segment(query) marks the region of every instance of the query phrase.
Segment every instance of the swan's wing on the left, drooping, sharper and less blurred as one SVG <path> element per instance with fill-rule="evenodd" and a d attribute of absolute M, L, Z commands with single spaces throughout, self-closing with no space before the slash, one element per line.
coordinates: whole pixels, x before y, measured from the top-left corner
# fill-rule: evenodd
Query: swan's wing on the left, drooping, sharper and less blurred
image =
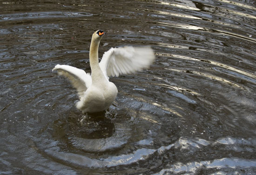
<path fill-rule="evenodd" d="M 59 75 L 67 77 L 74 88 L 76 88 L 79 97 L 82 97 L 84 92 L 92 84 L 92 78 L 82 69 L 68 65 L 56 65 L 53 71 L 57 70 Z"/>

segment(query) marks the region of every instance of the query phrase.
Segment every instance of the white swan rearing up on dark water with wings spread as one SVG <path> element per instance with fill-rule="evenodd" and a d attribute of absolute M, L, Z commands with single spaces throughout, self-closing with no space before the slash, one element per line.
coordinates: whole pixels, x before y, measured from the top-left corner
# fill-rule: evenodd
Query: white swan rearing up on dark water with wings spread
<path fill-rule="evenodd" d="M 114 83 L 108 81 L 108 76 L 140 71 L 149 67 L 155 60 L 151 47 L 128 46 L 109 49 L 99 63 L 98 48 L 104 34 L 102 30 L 98 30 L 92 36 L 89 54 L 91 75 L 67 65 L 58 64 L 53 68 L 59 75 L 67 77 L 78 91 L 80 101 L 76 103 L 76 108 L 83 113 L 104 111 L 115 100 L 117 88 Z"/>

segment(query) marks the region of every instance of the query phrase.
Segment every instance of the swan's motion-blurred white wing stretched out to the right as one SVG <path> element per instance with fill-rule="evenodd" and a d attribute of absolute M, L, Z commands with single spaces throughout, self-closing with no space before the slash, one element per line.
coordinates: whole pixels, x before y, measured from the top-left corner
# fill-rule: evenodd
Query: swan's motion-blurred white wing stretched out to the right
<path fill-rule="evenodd" d="M 154 60 L 155 54 L 151 47 L 111 48 L 103 54 L 100 67 L 106 77 L 118 77 L 148 68 Z"/>

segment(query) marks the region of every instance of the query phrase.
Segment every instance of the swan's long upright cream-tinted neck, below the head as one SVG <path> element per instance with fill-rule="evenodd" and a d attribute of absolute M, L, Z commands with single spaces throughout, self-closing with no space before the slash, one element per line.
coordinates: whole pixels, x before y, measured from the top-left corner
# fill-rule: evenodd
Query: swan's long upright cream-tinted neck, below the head
<path fill-rule="evenodd" d="M 92 83 L 96 84 L 106 80 L 99 65 L 98 49 L 100 41 L 92 39 L 90 46 L 90 67 L 92 70 Z"/>

